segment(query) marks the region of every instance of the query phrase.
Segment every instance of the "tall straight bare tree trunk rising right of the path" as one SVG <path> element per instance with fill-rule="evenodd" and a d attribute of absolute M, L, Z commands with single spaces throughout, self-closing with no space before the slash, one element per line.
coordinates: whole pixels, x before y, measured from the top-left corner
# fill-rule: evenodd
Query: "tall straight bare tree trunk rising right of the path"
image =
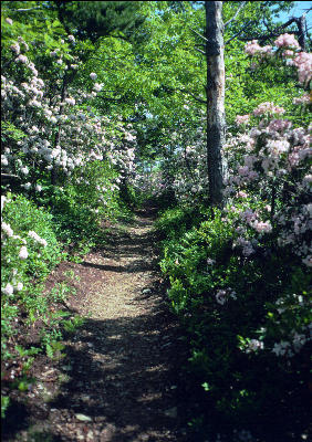
<path fill-rule="evenodd" d="M 210 204 L 222 207 L 226 137 L 222 2 L 205 1 L 207 60 L 207 167 Z"/>

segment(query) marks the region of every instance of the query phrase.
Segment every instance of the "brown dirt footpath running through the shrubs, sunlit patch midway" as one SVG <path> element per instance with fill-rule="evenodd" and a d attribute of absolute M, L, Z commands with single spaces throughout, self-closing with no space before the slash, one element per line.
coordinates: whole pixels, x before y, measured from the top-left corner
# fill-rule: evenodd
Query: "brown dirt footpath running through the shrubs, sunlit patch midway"
<path fill-rule="evenodd" d="M 184 343 L 157 271 L 153 220 L 145 211 L 111 227 L 103 249 L 50 275 L 48 287 L 71 271 L 76 294 L 65 307 L 85 322 L 63 341 L 64 358 L 37 359 L 39 381 L 23 402 L 13 398 L 3 441 L 188 440 L 177 386 Z"/>

